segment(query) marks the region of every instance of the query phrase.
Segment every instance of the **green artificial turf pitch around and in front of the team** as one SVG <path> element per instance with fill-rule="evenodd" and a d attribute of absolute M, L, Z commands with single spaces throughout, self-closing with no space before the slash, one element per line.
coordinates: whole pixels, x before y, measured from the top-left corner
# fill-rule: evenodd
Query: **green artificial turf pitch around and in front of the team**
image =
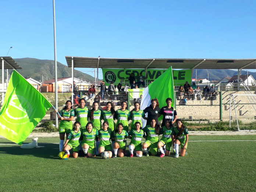
<path fill-rule="evenodd" d="M 256 135 L 189 136 L 188 154 L 179 158 L 173 154 L 163 158 L 143 154 L 141 158 L 61 160 L 57 157 L 58 144 L 54 144 L 58 141 L 39 138 L 39 146 L 45 147 L 21 149 L 0 139 L 0 191 L 256 189 Z M 31 142 L 31 138 L 26 142 Z"/>

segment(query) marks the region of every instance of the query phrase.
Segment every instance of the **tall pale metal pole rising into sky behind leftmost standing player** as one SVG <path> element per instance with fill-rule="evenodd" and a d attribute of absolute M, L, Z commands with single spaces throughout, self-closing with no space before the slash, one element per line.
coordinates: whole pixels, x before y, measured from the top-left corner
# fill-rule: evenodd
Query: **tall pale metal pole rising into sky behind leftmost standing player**
<path fill-rule="evenodd" d="M 54 69 L 55 69 L 55 109 L 58 110 L 58 84 L 57 84 L 57 54 L 56 54 L 56 29 L 55 29 L 55 0 L 53 0 L 53 33 L 54 33 Z M 55 116 L 55 125 L 58 127 L 58 115 Z"/>

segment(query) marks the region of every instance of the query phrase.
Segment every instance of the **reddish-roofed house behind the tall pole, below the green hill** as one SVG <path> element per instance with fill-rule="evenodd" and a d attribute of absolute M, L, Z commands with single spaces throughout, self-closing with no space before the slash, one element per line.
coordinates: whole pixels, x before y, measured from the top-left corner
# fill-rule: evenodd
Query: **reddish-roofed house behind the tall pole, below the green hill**
<path fill-rule="evenodd" d="M 78 86 L 79 90 L 88 90 L 89 86 L 92 85 L 92 83 L 82 81 L 78 78 L 74 78 L 75 84 Z M 64 77 L 64 78 L 58 78 L 57 84 L 58 84 L 58 92 L 71 92 L 71 86 L 73 83 L 72 77 Z M 42 92 L 55 92 L 55 79 L 50 79 L 48 81 L 44 81 L 42 84 Z"/>

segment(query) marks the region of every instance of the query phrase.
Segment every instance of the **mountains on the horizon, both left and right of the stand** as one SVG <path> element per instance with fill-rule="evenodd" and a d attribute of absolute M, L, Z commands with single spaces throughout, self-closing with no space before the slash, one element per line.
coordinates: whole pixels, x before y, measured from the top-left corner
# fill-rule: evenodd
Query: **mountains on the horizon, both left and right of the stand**
<path fill-rule="evenodd" d="M 15 58 L 14 59 L 22 69 L 17 70 L 24 78 L 33 78 L 36 81 L 42 81 L 42 75 L 44 76 L 44 81 L 46 77 L 49 79 L 54 78 L 54 60 L 40 60 L 36 58 Z M 58 67 L 58 78 L 71 77 L 71 68 L 60 62 L 57 62 Z M 197 79 L 207 78 L 207 71 L 209 73 L 209 80 L 220 80 L 224 77 L 232 77 L 237 75 L 237 71 L 234 70 L 214 70 L 214 69 L 197 69 Z M 11 70 L 9 70 L 11 74 Z M 246 71 L 242 71 L 242 75 L 245 75 Z M 256 79 L 256 72 L 248 71 L 253 78 Z M 6 75 L 6 73 L 4 73 Z M 83 73 L 78 70 L 74 70 L 74 77 L 82 79 L 87 82 L 94 82 L 94 77 Z M 196 77 L 196 70 L 193 71 L 192 78 Z M 1 79 L 1 77 L 0 77 Z M 99 79 L 100 80 L 100 79 Z"/>

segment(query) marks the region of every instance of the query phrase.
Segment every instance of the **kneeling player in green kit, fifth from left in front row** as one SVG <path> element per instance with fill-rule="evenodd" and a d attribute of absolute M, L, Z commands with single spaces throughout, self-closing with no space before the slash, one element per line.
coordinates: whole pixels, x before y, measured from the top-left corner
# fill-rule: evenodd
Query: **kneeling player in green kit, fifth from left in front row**
<path fill-rule="evenodd" d="M 128 135 L 128 138 L 131 139 L 129 145 L 130 157 L 133 157 L 134 149 L 136 151 L 136 156 L 142 157 L 141 139 L 143 138 L 144 131 L 141 129 L 141 123 L 138 121 L 135 122 L 135 129 L 131 129 Z"/>

